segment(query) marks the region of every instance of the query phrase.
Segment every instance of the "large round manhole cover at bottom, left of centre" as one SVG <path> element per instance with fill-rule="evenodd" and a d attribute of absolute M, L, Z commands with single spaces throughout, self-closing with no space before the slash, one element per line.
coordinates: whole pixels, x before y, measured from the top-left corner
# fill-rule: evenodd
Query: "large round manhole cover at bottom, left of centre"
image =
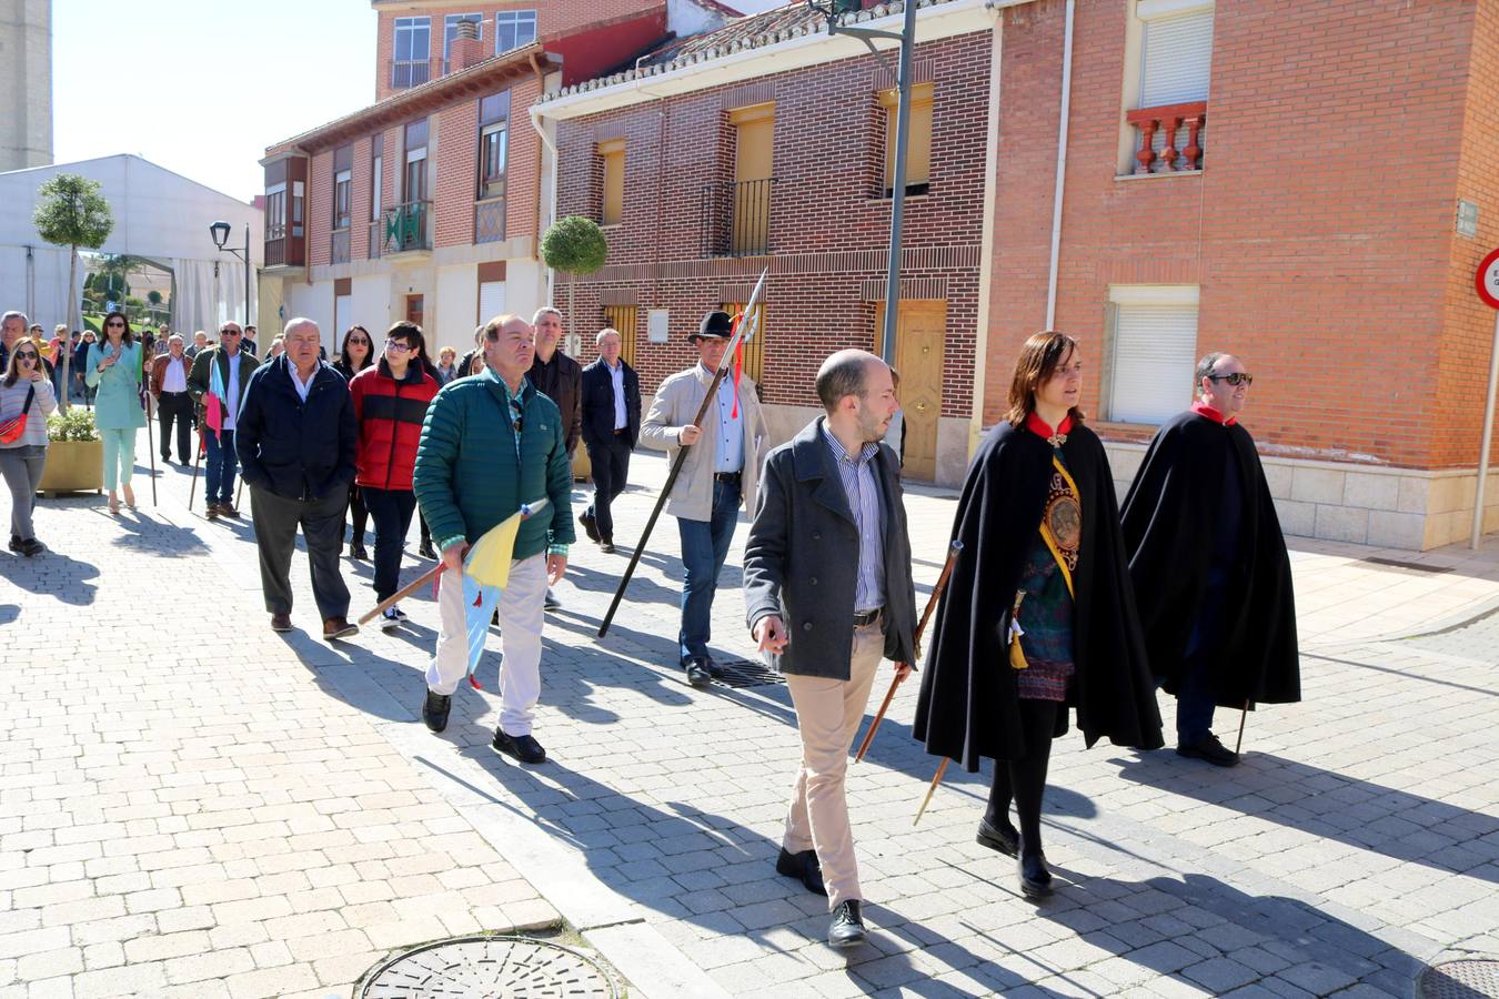
<path fill-rule="evenodd" d="M 358 995 L 364 999 L 616 999 L 615 983 L 579 951 L 523 936 L 438 941 L 378 965 Z"/>

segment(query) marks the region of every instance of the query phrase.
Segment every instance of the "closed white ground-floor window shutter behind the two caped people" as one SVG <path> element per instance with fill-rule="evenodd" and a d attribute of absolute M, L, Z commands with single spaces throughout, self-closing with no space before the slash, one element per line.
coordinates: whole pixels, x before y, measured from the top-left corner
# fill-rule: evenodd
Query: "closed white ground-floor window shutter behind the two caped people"
<path fill-rule="evenodd" d="M 1192 403 L 1198 307 L 1120 304 L 1109 419 L 1162 424 Z"/>

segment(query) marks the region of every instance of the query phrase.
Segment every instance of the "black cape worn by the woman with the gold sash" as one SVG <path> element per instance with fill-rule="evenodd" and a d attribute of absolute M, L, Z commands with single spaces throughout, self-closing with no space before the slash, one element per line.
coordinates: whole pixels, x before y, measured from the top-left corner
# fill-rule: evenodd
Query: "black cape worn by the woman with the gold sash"
<path fill-rule="evenodd" d="M 1097 436 L 1075 427 L 1061 446 L 1082 503 L 1082 545 L 1072 574 L 1076 672 L 1067 705 L 1088 746 L 1157 749 L 1160 711 L 1135 614 L 1135 593 L 1120 538 L 1114 476 Z M 1025 755 L 1015 669 L 1009 664 L 1010 611 L 1046 505 L 1051 445 L 1001 422 L 968 469 L 953 536 L 962 553 L 932 623 L 911 734 L 926 752 L 976 771 L 979 759 Z M 1067 711 L 1057 713 L 1057 735 Z"/>

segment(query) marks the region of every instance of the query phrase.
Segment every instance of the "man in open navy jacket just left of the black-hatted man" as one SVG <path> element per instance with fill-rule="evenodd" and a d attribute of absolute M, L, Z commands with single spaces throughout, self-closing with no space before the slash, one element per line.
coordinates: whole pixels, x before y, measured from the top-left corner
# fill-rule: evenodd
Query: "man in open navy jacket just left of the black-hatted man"
<path fill-rule="evenodd" d="M 598 359 L 583 368 L 583 446 L 594 470 L 594 502 L 577 515 L 588 536 L 615 550 L 615 517 L 609 505 L 625 491 L 630 452 L 640 439 L 640 376 L 619 356 L 618 330 L 600 330 Z"/>

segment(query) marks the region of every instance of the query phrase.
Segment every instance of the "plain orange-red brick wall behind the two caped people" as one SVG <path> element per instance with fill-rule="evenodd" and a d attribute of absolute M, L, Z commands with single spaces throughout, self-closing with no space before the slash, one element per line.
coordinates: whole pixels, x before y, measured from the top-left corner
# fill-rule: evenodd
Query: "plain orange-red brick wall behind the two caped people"
<path fill-rule="evenodd" d="M 1435 440 L 1432 389 L 1444 324 L 1463 312 L 1448 289 L 1459 273 L 1471 283 L 1448 249 L 1474 12 L 1457 0 L 1219 0 L 1205 171 L 1115 180 L 1127 4 L 1078 4 L 1055 325 L 1084 343 L 1090 409 L 1108 286 L 1190 283 L 1199 353 L 1231 350 L 1255 371 L 1246 424 L 1267 449 L 1462 460 L 1456 440 Z M 1037 0 L 1004 15 L 985 422 L 1045 322 L 1063 13 L 1063 0 Z M 1492 96 L 1490 79 L 1486 115 Z M 1463 162 L 1493 178 L 1483 132 L 1492 123 L 1468 127 Z"/>

